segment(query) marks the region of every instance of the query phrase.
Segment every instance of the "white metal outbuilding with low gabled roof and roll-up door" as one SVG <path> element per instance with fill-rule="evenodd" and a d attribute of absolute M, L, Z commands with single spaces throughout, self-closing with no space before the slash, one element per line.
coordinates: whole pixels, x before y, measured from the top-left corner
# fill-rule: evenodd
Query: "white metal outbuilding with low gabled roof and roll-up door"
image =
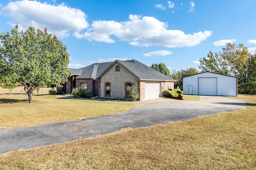
<path fill-rule="evenodd" d="M 237 96 L 237 77 L 201 72 L 183 78 L 183 94 Z"/>

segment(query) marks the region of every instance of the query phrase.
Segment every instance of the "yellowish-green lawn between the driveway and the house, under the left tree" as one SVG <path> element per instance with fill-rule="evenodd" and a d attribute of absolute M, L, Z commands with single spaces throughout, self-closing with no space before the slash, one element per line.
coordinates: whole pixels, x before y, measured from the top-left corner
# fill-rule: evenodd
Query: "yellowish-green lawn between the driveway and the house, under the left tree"
<path fill-rule="evenodd" d="M 55 95 L 33 95 L 32 100 L 33 103 L 29 104 L 26 94 L 1 94 L 0 129 L 113 114 L 137 105 L 134 102 L 67 99 Z"/>

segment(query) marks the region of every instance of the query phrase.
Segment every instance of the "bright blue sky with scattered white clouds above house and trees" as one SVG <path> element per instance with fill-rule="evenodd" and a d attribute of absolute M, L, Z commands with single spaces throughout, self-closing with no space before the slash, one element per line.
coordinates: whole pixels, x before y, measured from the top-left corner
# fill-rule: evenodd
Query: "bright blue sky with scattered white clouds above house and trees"
<path fill-rule="evenodd" d="M 255 0 L 1 0 L 0 32 L 18 23 L 56 34 L 70 68 L 136 59 L 170 70 L 198 69 L 198 60 L 227 42 L 256 50 Z"/>

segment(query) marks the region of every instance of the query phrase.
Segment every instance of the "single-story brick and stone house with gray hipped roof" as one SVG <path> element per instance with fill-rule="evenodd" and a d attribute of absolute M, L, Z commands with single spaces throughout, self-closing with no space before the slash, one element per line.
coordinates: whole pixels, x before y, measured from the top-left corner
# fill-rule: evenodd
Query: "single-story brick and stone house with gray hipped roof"
<path fill-rule="evenodd" d="M 175 80 L 136 60 L 94 63 L 82 69 L 71 69 L 63 86 L 65 93 L 83 87 L 87 93 L 110 99 L 131 99 L 132 84 L 138 87 L 138 100 L 162 97 L 163 90 L 173 89 Z"/>

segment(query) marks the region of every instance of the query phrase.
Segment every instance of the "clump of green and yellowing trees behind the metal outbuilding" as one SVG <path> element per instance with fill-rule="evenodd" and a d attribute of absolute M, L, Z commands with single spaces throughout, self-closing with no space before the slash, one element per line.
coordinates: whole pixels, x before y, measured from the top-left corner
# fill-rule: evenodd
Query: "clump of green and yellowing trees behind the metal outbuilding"
<path fill-rule="evenodd" d="M 238 90 L 242 93 L 253 91 L 256 77 L 256 53 L 252 55 L 243 44 L 226 43 L 222 48 L 222 53 L 212 55 L 208 58 L 200 59 L 199 68 L 202 71 L 213 71 L 220 74 L 229 74 L 238 77 Z M 247 90 L 249 85 L 249 89 Z"/>

